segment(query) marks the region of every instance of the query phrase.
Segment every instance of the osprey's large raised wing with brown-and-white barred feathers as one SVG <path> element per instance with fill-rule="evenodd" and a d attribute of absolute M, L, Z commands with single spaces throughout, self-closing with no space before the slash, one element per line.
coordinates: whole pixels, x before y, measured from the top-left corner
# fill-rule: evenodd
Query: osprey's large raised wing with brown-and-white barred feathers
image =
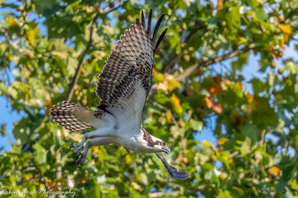
<path fill-rule="evenodd" d="M 97 107 L 118 118 L 128 118 L 141 124 L 146 98 L 151 88 L 152 69 L 156 50 L 162 41 L 165 29 L 155 47 L 155 39 L 161 24 L 162 14 L 157 20 L 151 38 L 152 9 L 146 29 L 142 10 L 141 22 L 136 18 L 120 37 L 98 76 L 96 95 L 101 99 Z"/>

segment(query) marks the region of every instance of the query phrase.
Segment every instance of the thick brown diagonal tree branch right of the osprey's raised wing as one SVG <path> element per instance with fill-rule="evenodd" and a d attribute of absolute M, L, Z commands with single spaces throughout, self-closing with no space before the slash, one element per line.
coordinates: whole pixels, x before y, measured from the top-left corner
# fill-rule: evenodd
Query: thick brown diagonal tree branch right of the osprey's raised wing
<path fill-rule="evenodd" d="M 198 72 L 201 67 L 207 67 L 208 65 L 211 65 L 211 64 L 214 64 L 214 63 L 218 63 L 218 62 L 224 61 L 226 59 L 233 58 L 235 56 L 239 56 L 240 54 L 245 53 L 245 52 L 247 52 L 247 51 L 249 51 L 251 49 L 254 49 L 255 47 L 259 47 L 259 45 L 251 44 L 249 46 L 243 47 L 242 49 L 238 49 L 238 50 L 232 51 L 232 52 L 230 52 L 228 54 L 224 54 L 223 56 L 218 56 L 218 57 L 215 57 L 215 58 L 202 57 L 202 58 L 199 59 L 199 62 L 198 63 L 193 64 L 193 65 L 187 67 L 184 70 L 183 73 L 181 73 L 180 75 L 176 76 L 175 77 L 175 80 L 181 82 L 185 78 L 187 78 L 190 75 L 194 74 L 195 72 Z"/>

